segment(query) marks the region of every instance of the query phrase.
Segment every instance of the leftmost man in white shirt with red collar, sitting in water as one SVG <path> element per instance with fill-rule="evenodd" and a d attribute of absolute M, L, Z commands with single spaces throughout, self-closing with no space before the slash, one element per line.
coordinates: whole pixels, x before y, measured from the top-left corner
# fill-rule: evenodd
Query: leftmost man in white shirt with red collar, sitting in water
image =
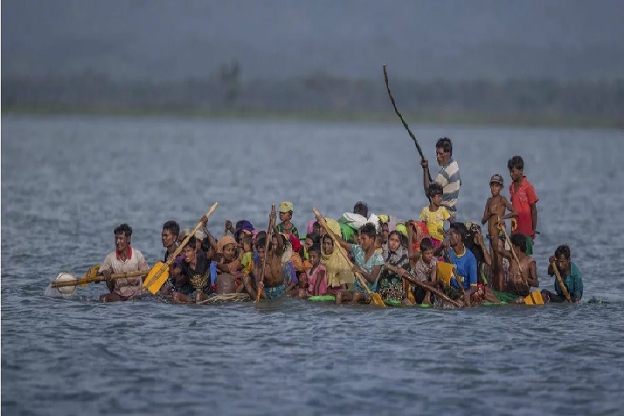
<path fill-rule="evenodd" d="M 145 261 L 143 254 L 130 245 L 132 227 L 123 223 L 114 229 L 115 250 L 108 254 L 98 275 L 105 278 L 106 286 L 110 293 L 100 296 L 100 302 L 118 302 L 123 300 L 139 299 L 141 292 L 141 277 L 129 277 L 126 279 L 112 280 L 113 273 L 136 272 L 145 270 L 146 275 L 150 266 Z"/>

